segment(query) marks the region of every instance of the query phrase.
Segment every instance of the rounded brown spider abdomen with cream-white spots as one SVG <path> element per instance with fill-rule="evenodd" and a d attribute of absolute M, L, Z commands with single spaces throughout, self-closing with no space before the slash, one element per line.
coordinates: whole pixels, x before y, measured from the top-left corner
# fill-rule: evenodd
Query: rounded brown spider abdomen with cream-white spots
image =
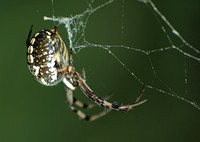
<path fill-rule="evenodd" d="M 68 54 L 56 28 L 36 33 L 28 43 L 27 61 L 32 75 L 46 86 L 59 83 L 68 65 Z"/>

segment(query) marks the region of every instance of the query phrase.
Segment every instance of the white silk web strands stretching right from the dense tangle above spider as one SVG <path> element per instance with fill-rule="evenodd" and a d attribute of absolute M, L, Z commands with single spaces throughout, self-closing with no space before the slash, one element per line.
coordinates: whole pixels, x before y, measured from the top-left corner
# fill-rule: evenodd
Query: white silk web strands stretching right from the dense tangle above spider
<path fill-rule="evenodd" d="M 189 75 L 188 74 L 188 64 L 187 60 L 191 59 L 192 62 L 198 62 L 200 61 L 200 51 L 190 45 L 181 35 L 180 33 L 171 25 L 171 23 L 167 20 L 167 18 L 158 10 L 158 8 L 154 5 L 154 3 L 151 0 L 138 0 L 137 2 L 143 3 L 146 5 L 150 11 L 152 11 L 152 14 L 155 15 L 155 19 L 157 19 L 157 22 L 159 23 L 162 32 L 165 35 L 165 38 L 168 41 L 168 45 L 165 47 L 160 47 L 157 49 L 151 49 L 151 50 L 143 50 L 135 47 L 129 47 L 126 45 L 101 45 L 96 43 L 91 43 L 86 40 L 85 38 L 85 29 L 87 27 L 87 22 L 90 18 L 90 16 L 95 13 L 98 10 L 103 10 L 104 7 L 107 5 L 110 5 L 114 3 L 114 0 L 106 1 L 105 3 L 102 3 L 101 5 L 98 5 L 96 7 L 93 7 L 93 3 L 95 1 L 91 1 L 91 3 L 88 6 L 88 9 L 84 11 L 81 14 L 77 14 L 75 16 L 70 17 L 44 17 L 44 20 L 51 20 L 54 22 L 58 22 L 58 24 L 64 24 L 65 28 L 67 30 L 67 36 L 69 40 L 69 46 L 73 49 L 74 53 L 78 53 L 80 50 L 84 48 L 102 48 L 106 50 L 112 57 L 114 57 L 123 68 L 125 68 L 128 73 L 131 74 L 131 76 L 136 79 L 141 85 L 145 85 L 147 88 L 152 89 L 154 91 L 159 92 L 160 94 L 166 94 L 173 96 L 177 99 L 180 99 L 186 103 L 191 104 L 197 109 L 200 109 L 200 106 L 198 105 L 198 97 L 197 94 L 191 94 L 191 92 L 188 91 L 189 86 Z M 122 0 L 122 9 L 123 9 L 123 3 L 124 0 Z M 122 20 L 123 20 L 123 10 L 122 10 Z M 123 21 L 121 24 L 121 31 L 123 32 Z M 177 42 L 178 41 L 178 42 Z M 118 57 L 114 52 L 112 51 L 113 48 L 119 48 L 119 49 L 125 49 L 130 52 L 138 52 L 144 54 L 149 61 L 149 65 L 151 66 L 151 70 L 154 75 L 154 79 L 151 81 L 152 83 L 146 83 L 144 82 L 140 76 L 135 74 L 135 71 L 130 69 L 130 67 L 124 63 L 120 57 Z M 165 83 L 165 81 L 159 76 L 159 73 L 157 71 L 157 68 L 154 66 L 153 56 L 155 54 L 162 54 L 166 51 L 173 51 L 173 52 L 179 52 L 184 57 L 184 94 L 181 92 L 177 92 L 174 90 L 173 87 L 170 87 L 170 84 Z M 158 87 L 156 83 L 158 82 L 163 87 Z M 164 89 L 163 89 L 164 88 Z M 196 99 L 195 99 L 196 98 Z"/>

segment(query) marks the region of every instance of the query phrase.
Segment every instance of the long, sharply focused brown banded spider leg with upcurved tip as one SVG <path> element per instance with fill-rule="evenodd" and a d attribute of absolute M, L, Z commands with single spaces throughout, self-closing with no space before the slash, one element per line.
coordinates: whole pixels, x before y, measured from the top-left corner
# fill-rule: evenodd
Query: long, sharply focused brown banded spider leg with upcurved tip
<path fill-rule="evenodd" d="M 76 73 L 77 74 L 77 73 Z M 143 87 L 139 97 L 134 101 L 134 103 L 132 103 L 131 105 L 124 105 L 124 106 L 118 106 L 115 104 L 112 104 L 106 100 L 103 100 L 99 97 L 96 96 L 96 94 L 88 87 L 88 85 L 85 83 L 85 81 L 82 78 L 79 78 L 77 80 L 81 90 L 83 91 L 83 93 L 93 102 L 95 102 L 96 104 L 98 104 L 99 106 L 105 106 L 114 110 L 119 110 L 119 111 L 129 111 L 130 109 L 132 109 L 134 106 L 138 106 L 140 104 L 143 104 L 144 102 L 146 102 L 146 100 L 138 102 L 139 99 L 141 98 L 142 94 L 144 93 L 145 87 Z"/>

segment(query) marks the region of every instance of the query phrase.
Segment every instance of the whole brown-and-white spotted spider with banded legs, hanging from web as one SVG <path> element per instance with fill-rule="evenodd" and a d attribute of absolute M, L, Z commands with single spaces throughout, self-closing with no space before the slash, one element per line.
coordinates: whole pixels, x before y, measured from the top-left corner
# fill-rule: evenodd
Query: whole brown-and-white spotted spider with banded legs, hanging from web
<path fill-rule="evenodd" d="M 118 111 L 128 111 L 134 106 L 144 103 L 146 100 L 138 102 L 144 93 L 143 87 L 139 97 L 131 104 L 118 106 L 108 102 L 106 99 L 101 99 L 88 87 L 86 84 L 85 70 L 82 75 L 75 71 L 73 67 L 72 49 L 68 57 L 68 50 L 65 43 L 62 41 L 56 27 L 50 30 L 41 30 L 31 37 L 33 25 L 30 28 L 26 45 L 28 47 L 27 62 L 30 72 L 35 79 L 45 85 L 53 86 L 59 82 L 63 82 L 66 88 L 66 98 L 71 110 L 73 110 L 81 119 L 96 120 L 97 118 L 107 114 L 111 109 Z M 73 97 L 72 91 L 78 87 L 82 92 L 94 103 L 84 104 L 80 100 Z M 104 111 L 88 116 L 77 108 L 92 108 L 95 104 L 106 107 Z"/>

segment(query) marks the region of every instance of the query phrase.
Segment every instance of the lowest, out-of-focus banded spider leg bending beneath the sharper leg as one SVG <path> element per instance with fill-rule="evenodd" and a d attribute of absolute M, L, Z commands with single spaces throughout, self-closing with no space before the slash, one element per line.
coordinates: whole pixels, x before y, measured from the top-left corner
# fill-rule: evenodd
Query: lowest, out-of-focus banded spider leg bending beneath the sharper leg
<path fill-rule="evenodd" d="M 69 107 L 71 108 L 71 110 L 74 111 L 81 119 L 93 121 L 93 120 L 96 120 L 96 119 L 106 115 L 110 111 L 110 109 L 107 109 L 107 110 L 104 110 L 104 111 L 102 111 L 102 112 L 100 112 L 96 115 L 88 116 L 84 112 L 82 112 L 81 110 L 79 110 L 75 107 L 75 104 L 77 104 L 77 103 L 74 103 L 73 92 L 69 88 L 66 88 L 66 97 L 67 97 Z M 80 106 L 82 106 L 82 104 Z"/>

